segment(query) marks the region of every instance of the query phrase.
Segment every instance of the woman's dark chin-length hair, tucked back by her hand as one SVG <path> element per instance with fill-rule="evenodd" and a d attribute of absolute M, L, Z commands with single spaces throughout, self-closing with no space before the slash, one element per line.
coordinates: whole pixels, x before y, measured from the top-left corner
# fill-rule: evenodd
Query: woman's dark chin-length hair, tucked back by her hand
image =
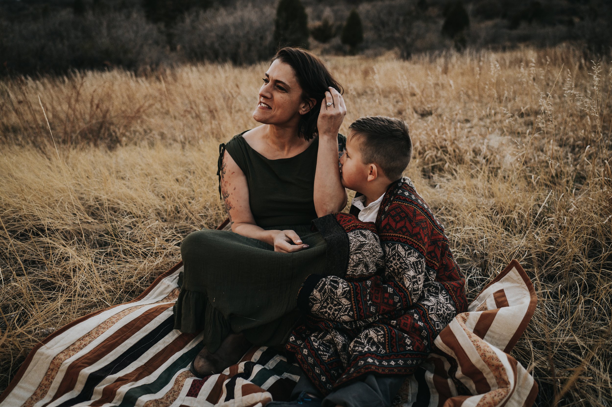
<path fill-rule="evenodd" d="M 340 94 L 344 92 L 342 85 L 334 79 L 323 61 L 303 48 L 281 48 L 272 58 L 272 61 L 276 59 L 280 59 L 280 61 L 293 68 L 297 83 L 302 87 L 302 98 L 305 102 L 312 103 L 310 99 L 315 99 L 320 103 L 325 98 L 325 92 L 329 91 L 327 89 L 329 86 L 336 89 Z M 318 135 L 318 129 L 316 128 L 316 121 L 319 118 L 318 103 L 311 106 L 308 113 L 302 115 L 302 119 L 297 125 L 298 134 L 305 140 L 310 140 Z"/>

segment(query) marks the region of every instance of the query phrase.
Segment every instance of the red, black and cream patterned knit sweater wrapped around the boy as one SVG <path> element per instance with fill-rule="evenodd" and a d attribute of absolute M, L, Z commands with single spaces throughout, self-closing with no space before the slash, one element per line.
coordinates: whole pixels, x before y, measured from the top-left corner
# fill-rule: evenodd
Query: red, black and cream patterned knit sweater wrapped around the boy
<path fill-rule="evenodd" d="M 414 372 L 468 305 L 444 228 L 408 178 L 390 185 L 375 223 L 355 210 L 313 221 L 327 241 L 329 277 L 305 281 L 304 324 L 286 345 L 323 394 L 368 373 Z"/>

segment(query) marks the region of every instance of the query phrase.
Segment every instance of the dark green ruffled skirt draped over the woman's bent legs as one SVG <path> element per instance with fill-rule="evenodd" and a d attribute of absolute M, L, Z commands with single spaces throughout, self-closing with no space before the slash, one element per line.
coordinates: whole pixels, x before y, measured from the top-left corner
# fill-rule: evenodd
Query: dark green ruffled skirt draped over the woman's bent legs
<path fill-rule="evenodd" d="M 277 253 L 271 245 L 231 231 L 201 230 L 181 243 L 184 270 L 174 305 L 174 328 L 204 331 L 214 352 L 232 332 L 254 345 L 283 345 L 300 312 L 296 298 L 310 274 L 324 274 L 327 244 L 307 226 L 293 229 L 307 249 Z"/>

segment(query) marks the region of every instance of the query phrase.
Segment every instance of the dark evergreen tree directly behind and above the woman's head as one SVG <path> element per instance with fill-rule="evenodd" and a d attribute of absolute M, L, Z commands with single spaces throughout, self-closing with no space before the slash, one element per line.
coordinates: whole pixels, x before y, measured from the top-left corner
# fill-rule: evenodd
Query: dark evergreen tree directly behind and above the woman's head
<path fill-rule="evenodd" d="M 308 15 L 300 0 L 280 0 L 274 21 L 275 45 L 308 48 Z"/>

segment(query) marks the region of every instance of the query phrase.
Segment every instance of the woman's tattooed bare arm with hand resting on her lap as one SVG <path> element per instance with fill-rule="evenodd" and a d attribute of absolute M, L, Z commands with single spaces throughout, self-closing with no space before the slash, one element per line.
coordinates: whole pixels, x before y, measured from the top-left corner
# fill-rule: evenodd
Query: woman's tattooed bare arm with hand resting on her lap
<path fill-rule="evenodd" d="M 255 224 L 248 203 L 247 177 L 227 151 L 223 154 L 220 174 L 221 195 L 230 215 L 233 232 L 266 242 L 274 246 L 276 252 L 297 252 L 308 247 L 302 244 L 300 237 L 293 230 L 264 230 Z"/>

